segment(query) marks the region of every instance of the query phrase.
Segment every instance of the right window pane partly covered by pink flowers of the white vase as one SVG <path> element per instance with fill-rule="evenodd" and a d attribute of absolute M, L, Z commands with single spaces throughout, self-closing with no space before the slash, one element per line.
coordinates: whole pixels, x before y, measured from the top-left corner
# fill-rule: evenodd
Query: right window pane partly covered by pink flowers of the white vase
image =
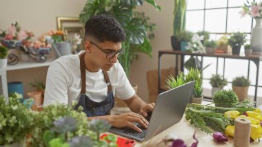
<path fill-rule="evenodd" d="M 242 17 L 239 12 L 242 8 L 228 9 L 228 31 L 227 32 L 251 32 L 251 17 Z"/>

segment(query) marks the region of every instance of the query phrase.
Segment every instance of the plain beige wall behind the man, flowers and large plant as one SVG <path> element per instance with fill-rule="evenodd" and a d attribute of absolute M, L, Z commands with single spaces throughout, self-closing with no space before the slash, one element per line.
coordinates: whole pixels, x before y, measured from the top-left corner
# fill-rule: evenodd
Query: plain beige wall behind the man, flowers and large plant
<path fill-rule="evenodd" d="M 155 39 L 151 41 L 153 52 L 152 59 L 146 55 L 139 54 L 139 59 L 134 61 L 131 69 L 130 81 L 139 85 L 138 95 L 147 101 L 148 87 L 146 83 L 146 72 L 157 69 L 158 50 L 171 48 L 170 36 L 172 35 L 172 21 L 174 2 L 170 0 L 157 0 L 162 11 L 154 10 L 152 6 L 145 3 L 139 11 L 145 12 L 152 22 L 157 24 Z M 0 0 L 0 28 L 7 29 L 11 23 L 18 21 L 25 30 L 34 32 L 34 39 L 40 37 L 49 30 L 57 29 L 57 17 L 78 17 L 83 9 L 85 0 Z M 173 66 L 174 58 L 163 56 L 163 68 Z M 8 72 L 8 81 L 22 81 L 25 93 L 30 87 L 28 82 L 33 79 L 46 80 L 47 68 L 34 70 L 17 70 Z M 30 76 L 24 76 L 28 75 Z"/>

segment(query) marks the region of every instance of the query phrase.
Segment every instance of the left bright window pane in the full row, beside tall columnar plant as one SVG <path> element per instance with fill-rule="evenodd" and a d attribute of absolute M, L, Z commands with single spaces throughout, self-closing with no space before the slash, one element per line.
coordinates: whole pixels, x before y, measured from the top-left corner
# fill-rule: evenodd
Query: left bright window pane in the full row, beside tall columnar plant
<path fill-rule="evenodd" d="M 185 29 L 190 30 L 192 32 L 203 30 L 203 22 L 204 22 L 203 17 L 204 17 L 203 10 L 187 11 Z"/>

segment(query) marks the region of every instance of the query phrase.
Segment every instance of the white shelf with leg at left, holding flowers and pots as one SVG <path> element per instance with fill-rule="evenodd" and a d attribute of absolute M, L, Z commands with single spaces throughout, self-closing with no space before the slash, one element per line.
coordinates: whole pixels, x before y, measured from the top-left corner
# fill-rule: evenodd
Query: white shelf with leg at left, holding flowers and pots
<path fill-rule="evenodd" d="M 3 92 L 2 95 L 8 101 L 8 82 L 7 82 L 7 77 L 6 77 L 7 71 L 50 66 L 52 61 L 54 61 L 54 59 L 48 59 L 46 62 L 43 62 L 43 63 L 19 61 L 19 63 L 17 63 L 16 65 L 13 65 L 13 66 L 8 65 L 6 68 L 0 68 L 1 86 L 2 86 L 1 88 Z"/>

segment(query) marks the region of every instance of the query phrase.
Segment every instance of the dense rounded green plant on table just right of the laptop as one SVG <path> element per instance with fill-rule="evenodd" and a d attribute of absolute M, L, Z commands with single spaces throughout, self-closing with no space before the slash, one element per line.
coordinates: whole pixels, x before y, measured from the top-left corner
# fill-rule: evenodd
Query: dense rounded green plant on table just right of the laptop
<path fill-rule="evenodd" d="M 214 94 L 213 101 L 216 107 L 231 108 L 238 104 L 239 99 L 233 90 L 221 90 Z"/>

